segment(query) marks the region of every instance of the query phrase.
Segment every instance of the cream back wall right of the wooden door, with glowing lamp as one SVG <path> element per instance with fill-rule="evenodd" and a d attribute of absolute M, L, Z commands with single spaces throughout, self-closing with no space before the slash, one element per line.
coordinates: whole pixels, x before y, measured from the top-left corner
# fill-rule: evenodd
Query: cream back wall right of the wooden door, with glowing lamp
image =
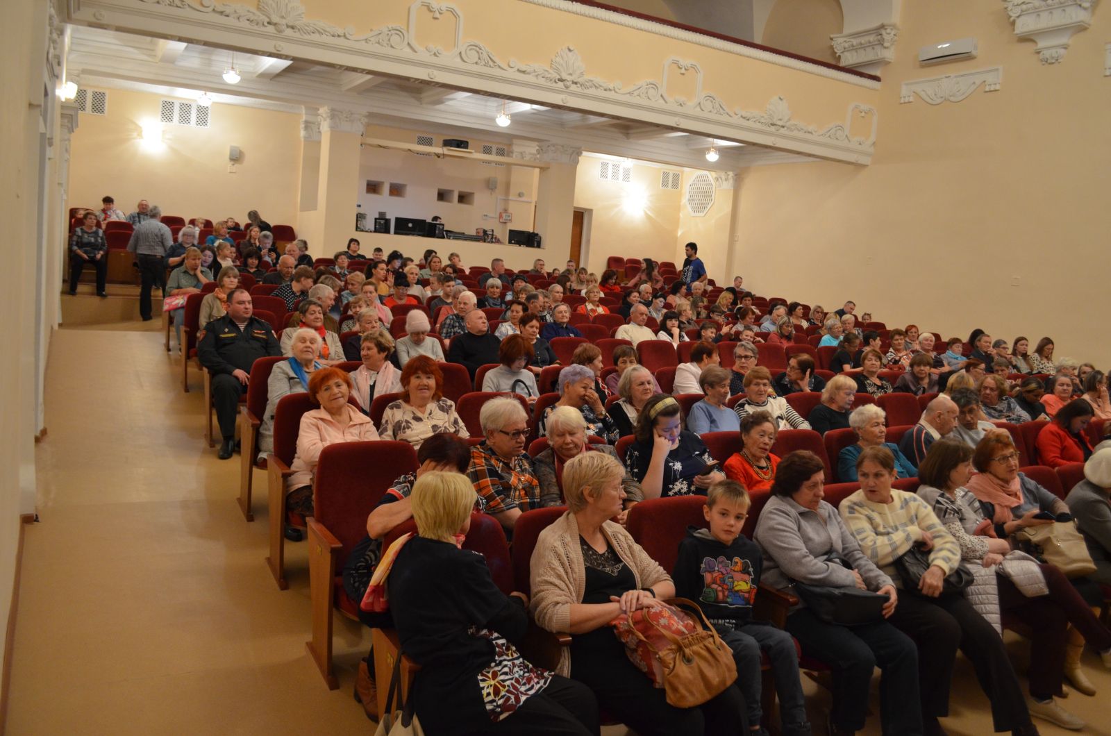
<path fill-rule="evenodd" d="M 600 162 L 582 157 L 575 177 L 574 206 L 592 211 L 587 268 L 601 275 L 609 256 L 673 261 L 681 190 L 660 189 L 662 169 L 650 166 L 634 165 L 630 183 L 603 181 Z M 643 197 L 642 211 L 625 207 L 635 192 Z"/>

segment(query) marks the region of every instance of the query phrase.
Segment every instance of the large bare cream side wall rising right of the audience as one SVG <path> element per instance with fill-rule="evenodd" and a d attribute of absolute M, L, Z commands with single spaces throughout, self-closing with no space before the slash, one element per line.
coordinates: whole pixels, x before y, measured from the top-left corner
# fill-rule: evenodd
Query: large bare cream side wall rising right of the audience
<path fill-rule="evenodd" d="M 742 172 L 734 255 L 745 285 L 827 308 L 851 298 L 889 326 L 947 337 L 1049 335 L 1058 356 L 1108 366 L 1111 342 L 1092 337 L 1111 305 L 1111 13 L 1097 12 L 1053 66 L 993 3 L 903 3 L 899 27 L 871 166 Z M 918 48 L 968 36 L 979 58 L 918 66 Z M 899 103 L 902 81 L 997 64 L 999 91 Z"/>

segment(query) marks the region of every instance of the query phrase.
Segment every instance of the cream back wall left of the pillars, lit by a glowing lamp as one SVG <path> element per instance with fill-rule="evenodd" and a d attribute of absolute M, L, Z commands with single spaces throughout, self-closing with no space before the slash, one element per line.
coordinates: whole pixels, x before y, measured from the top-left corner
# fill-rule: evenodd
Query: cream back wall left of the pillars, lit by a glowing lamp
<path fill-rule="evenodd" d="M 144 198 L 187 220 L 243 221 L 257 209 L 273 225 L 297 222 L 300 116 L 213 105 L 210 128 L 166 125 L 163 145 L 150 146 L 140 140 L 140 126 L 158 120 L 161 99 L 111 89 L 107 116 L 81 116 L 70 167 L 73 207 L 100 207 L 111 195 L 124 212 Z M 236 173 L 228 172 L 229 146 L 243 151 Z"/>

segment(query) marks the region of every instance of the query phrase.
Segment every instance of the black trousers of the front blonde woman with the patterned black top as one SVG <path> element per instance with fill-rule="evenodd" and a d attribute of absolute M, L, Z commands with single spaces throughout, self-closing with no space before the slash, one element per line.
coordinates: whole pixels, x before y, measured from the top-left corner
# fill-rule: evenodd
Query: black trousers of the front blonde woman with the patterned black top
<path fill-rule="evenodd" d="M 590 688 L 567 677 L 552 682 L 512 715 L 473 732 L 490 736 L 598 736 L 598 700 Z"/>

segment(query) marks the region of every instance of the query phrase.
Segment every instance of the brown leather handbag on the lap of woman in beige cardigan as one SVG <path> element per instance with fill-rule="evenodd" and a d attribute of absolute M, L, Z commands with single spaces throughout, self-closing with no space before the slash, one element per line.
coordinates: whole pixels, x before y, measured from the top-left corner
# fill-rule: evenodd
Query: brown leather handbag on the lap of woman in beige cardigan
<path fill-rule="evenodd" d="M 737 680 L 737 665 L 733 653 L 718 636 L 698 604 L 687 598 L 671 598 L 667 603 L 697 611 L 705 627 L 699 628 L 693 621 L 692 631 L 681 625 L 661 625 L 657 617 L 643 616 L 634 617 L 625 633 L 657 659 L 659 667 L 655 669 L 663 682 L 668 703 L 677 708 L 692 708 L 717 697 L 732 685 Z M 675 613 L 678 616 L 674 618 L 688 619 L 681 611 Z M 621 637 L 621 633 L 618 636 Z M 668 641 L 662 647 L 659 646 L 661 637 Z"/>

